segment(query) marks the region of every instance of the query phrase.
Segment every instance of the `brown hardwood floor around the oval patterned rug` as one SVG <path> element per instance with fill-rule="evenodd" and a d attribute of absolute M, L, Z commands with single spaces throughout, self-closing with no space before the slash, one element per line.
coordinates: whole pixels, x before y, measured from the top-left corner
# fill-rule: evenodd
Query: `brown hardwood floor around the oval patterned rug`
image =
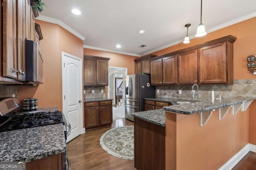
<path fill-rule="evenodd" d="M 112 156 L 100 146 L 100 137 L 111 128 L 134 125 L 126 119 L 117 119 L 112 127 L 92 129 L 67 144 L 72 170 L 136 170 L 134 160 Z"/>

